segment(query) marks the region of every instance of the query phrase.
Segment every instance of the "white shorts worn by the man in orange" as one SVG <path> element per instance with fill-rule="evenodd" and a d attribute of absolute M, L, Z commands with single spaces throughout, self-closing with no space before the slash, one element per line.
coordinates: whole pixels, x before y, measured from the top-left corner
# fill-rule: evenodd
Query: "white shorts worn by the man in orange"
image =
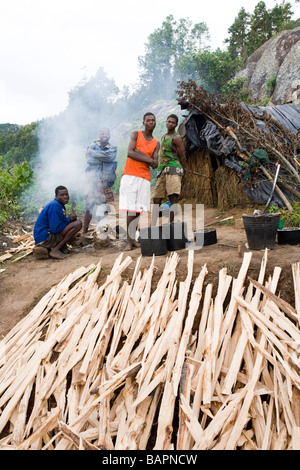
<path fill-rule="evenodd" d="M 119 209 L 128 212 L 148 212 L 151 202 L 150 181 L 138 176 L 123 175 L 120 182 Z"/>

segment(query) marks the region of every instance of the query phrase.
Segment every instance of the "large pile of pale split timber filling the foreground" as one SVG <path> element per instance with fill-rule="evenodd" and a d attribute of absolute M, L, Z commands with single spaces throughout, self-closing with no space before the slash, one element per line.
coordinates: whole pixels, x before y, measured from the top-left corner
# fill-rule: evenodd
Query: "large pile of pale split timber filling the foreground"
<path fill-rule="evenodd" d="M 300 264 L 295 307 L 278 294 L 281 269 L 236 279 L 207 267 L 176 280 L 167 258 L 116 260 L 68 275 L 4 338 L 2 449 L 300 449 Z M 122 276 L 123 273 L 123 276 Z M 196 325 L 197 323 L 197 325 Z"/>

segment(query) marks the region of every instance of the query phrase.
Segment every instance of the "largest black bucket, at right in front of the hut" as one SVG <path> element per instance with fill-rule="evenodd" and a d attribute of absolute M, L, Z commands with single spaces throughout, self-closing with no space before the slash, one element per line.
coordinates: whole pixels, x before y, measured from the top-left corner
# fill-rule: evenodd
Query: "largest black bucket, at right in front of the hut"
<path fill-rule="evenodd" d="M 250 250 L 274 248 L 280 217 L 280 214 L 243 215 Z"/>

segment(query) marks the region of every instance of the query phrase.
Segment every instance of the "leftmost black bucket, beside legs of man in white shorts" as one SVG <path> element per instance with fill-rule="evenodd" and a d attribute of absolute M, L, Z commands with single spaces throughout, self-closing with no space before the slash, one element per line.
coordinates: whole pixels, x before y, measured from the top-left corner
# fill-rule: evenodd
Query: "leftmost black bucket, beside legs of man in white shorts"
<path fill-rule="evenodd" d="M 162 256 L 168 253 L 162 225 L 141 228 L 140 241 L 142 256 Z"/>

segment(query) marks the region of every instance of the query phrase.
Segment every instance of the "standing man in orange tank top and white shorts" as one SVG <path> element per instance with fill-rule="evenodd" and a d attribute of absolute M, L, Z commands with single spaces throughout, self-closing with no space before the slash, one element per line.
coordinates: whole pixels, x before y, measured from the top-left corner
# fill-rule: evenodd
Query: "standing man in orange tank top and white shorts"
<path fill-rule="evenodd" d="M 119 209 L 127 212 L 127 244 L 124 251 L 137 247 L 135 230 L 141 212 L 150 210 L 151 168 L 157 168 L 159 142 L 153 137 L 153 113 L 143 117 L 143 131 L 131 133 L 127 160 L 120 183 Z"/>

